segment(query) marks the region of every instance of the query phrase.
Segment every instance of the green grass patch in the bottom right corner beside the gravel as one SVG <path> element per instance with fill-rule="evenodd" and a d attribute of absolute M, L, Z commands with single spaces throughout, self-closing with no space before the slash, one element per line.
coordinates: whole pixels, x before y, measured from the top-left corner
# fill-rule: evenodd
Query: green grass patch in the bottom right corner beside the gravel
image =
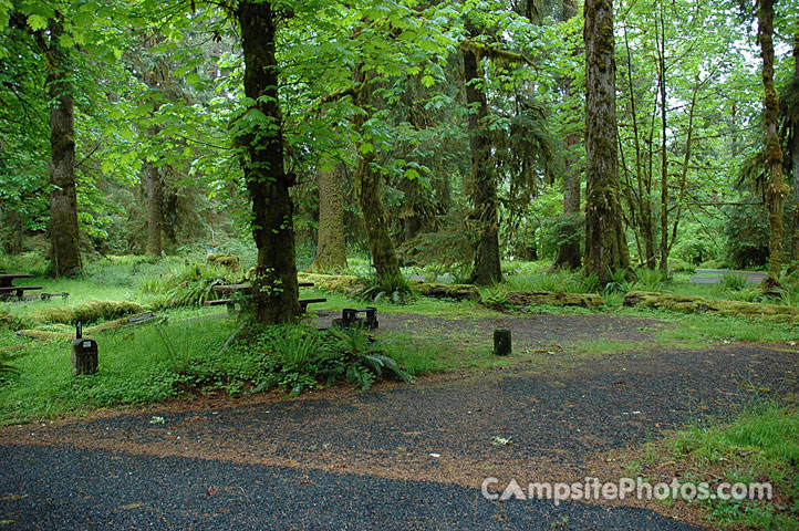
<path fill-rule="evenodd" d="M 651 482 L 770 483 L 771 500 L 708 499 L 702 504 L 709 523 L 751 529 L 799 529 L 799 405 L 760 402 L 733 421 L 694 426 L 648 444 L 626 458 L 629 472 Z M 671 475 L 671 477 L 670 477 Z"/>

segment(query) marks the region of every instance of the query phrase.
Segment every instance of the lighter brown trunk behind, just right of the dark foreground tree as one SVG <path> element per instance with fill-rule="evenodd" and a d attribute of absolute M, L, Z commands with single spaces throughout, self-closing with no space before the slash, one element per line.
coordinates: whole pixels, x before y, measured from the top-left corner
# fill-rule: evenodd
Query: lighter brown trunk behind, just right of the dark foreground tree
<path fill-rule="evenodd" d="M 346 269 L 344 239 L 344 186 L 342 165 L 319 170 L 319 238 L 314 271 Z"/>

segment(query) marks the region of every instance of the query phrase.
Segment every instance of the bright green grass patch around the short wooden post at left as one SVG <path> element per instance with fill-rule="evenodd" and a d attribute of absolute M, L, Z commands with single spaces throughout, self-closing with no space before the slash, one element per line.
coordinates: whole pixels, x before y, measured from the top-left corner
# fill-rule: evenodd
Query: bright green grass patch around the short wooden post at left
<path fill-rule="evenodd" d="M 231 320 L 206 317 L 102 333 L 95 337 L 98 373 L 77 378 L 72 376 L 68 341 L 32 343 L 12 362 L 20 376 L 0 387 L 0 419 L 18 423 L 173 398 L 181 389 L 179 368 L 212 356 L 231 330 Z M 179 347 L 165 348 L 163 334 Z"/>

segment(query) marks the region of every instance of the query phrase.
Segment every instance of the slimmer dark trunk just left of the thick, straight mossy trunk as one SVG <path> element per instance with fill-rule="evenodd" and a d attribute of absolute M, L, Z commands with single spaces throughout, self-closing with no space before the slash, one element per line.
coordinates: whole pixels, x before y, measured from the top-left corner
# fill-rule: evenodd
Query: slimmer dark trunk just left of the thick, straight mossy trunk
<path fill-rule="evenodd" d="M 563 0 L 563 21 L 577 15 L 577 2 L 574 0 Z M 567 98 L 572 96 L 572 84 L 574 80 L 571 76 L 563 79 L 563 93 Z M 567 154 L 565 173 L 563 174 L 563 215 L 567 218 L 564 226 L 565 231 L 560 235 L 560 247 L 558 256 L 554 259 L 552 268 L 579 269 L 582 263 L 582 253 L 580 252 L 579 217 L 580 217 L 580 170 L 577 168 L 574 160 L 569 155 L 572 147 L 579 142 L 578 135 L 569 134 L 563 140 L 563 150 Z"/>

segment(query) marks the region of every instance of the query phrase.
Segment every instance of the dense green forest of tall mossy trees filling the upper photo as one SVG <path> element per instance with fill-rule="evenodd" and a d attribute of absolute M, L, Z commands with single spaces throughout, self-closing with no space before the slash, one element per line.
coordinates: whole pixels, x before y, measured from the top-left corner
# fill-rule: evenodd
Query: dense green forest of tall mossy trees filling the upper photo
<path fill-rule="evenodd" d="M 795 0 L 0 1 L 2 253 L 489 285 L 799 259 Z M 618 271 L 622 271 L 621 277 Z"/>

